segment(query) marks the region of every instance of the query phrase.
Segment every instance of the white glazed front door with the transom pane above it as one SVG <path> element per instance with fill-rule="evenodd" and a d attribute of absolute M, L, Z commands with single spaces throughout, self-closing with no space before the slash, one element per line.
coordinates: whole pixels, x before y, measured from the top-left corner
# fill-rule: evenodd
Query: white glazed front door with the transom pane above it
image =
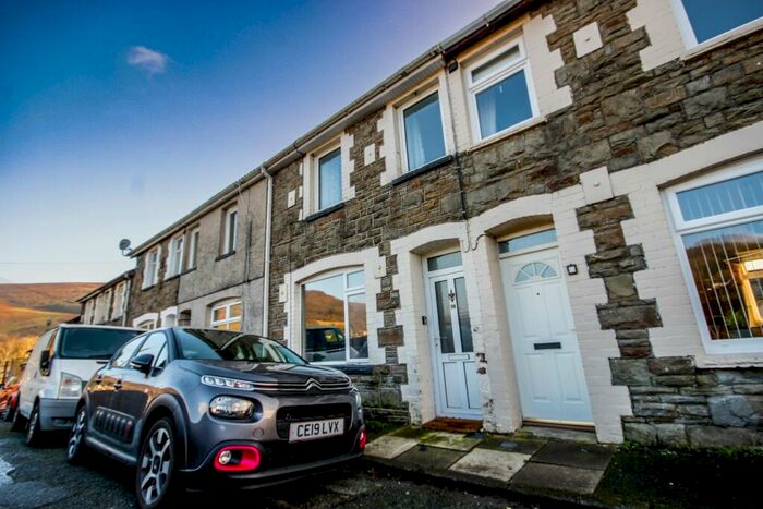
<path fill-rule="evenodd" d="M 427 259 L 428 329 L 437 415 L 481 419 L 480 386 L 461 253 Z"/>

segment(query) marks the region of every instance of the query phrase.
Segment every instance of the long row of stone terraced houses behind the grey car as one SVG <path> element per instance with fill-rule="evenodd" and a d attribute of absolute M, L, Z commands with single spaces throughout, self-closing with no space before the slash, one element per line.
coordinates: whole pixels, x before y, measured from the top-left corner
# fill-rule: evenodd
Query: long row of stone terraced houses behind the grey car
<path fill-rule="evenodd" d="M 373 417 L 763 443 L 763 2 L 710 4 L 501 3 L 138 246 L 131 325 L 263 332 Z"/>

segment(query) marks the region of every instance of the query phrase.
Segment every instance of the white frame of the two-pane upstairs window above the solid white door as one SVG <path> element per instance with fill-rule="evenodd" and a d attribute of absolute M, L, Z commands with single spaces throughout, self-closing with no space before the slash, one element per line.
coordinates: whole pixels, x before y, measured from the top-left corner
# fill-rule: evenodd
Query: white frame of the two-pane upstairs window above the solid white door
<path fill-rule="evenodd" d="M 489 62 L 494 58 L 500 56 L 501 53 L 505 53 L 509 51 L 513 46 L 517 46 L 519 49 L 519 57 L 516 62 L 511 63 L 509 66 L 501 69 L 500 71 L 492 74 L 488 77 L 484 77 L 480 80 L 479 82 L 474 82 L 472 78 L 472 71 L 477 69 L 484 63 Z M 529 119 L 525 119 L 521 122 L 518 122 L 513 125 L 509 125 L 508 128 L 497 131 L 489 136 L 482 136 L 482 130 L 480 129 L 480 113 L 477 110 L 477 104 L 476 104 L 476 96 L 479 93 L 492 87 L 496 83 L 506 80 L 509 76 L 512 76 L 520 71 L 524 71 L 524 78 L 526 81 L 526 86 L 528 86 L 528 100 L 530 101 L 530 111 L 532 112 L 532 116 Z M 487 140 L 493 140 L 499 136 L 504 136 L 507 133 L 511 133 L 518 130 L 521 130 L 523 126 L 531 124 L 532 122 L 535 122 L 540 118 L 540 109 L 537 107 L 537 98 L 535 97 L 535 87 L 533 86 L 533 77 L 532 77 L 532 72 L 530 70 L 530 60 L 528 59 L 528 54 L 524 50 L 524 41 L 522 40 L 522 37 L 513 37 L 506 43 L 501 44 L 500 47 L 496 48 L 495 50 L 486 53 L 485 56 L 481 57 L 480 59 L 475 60 L 474 62 L 470 63 L 465 69 L 464 72 L 467 74 L 467 94 L 469 96 L 469 113 L 472 119 L 472 136 L 474 140 L 474 143 L 481 143 L 485 142 Z"/>

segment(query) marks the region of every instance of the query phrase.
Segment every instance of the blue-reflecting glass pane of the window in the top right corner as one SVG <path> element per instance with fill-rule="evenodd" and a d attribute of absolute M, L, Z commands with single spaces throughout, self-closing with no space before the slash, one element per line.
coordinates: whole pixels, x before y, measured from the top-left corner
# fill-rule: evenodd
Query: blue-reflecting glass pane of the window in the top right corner
<path fill-rule="evenodd" d="M 683 0 L 683 7 L 698 43 L 763 16 L 760 0 L 735 0 L 723 4 L 717 0 Z"/>

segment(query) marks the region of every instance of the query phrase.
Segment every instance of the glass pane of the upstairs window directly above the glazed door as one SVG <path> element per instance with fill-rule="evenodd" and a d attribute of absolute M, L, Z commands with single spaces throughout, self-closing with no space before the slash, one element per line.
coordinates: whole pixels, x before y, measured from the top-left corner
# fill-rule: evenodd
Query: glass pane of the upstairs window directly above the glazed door
<path fill-rule="evenodd" d="M 439 96 L 432 94 L 403 112 L 408 169 L 415 170 L 445 156 Z"/>

